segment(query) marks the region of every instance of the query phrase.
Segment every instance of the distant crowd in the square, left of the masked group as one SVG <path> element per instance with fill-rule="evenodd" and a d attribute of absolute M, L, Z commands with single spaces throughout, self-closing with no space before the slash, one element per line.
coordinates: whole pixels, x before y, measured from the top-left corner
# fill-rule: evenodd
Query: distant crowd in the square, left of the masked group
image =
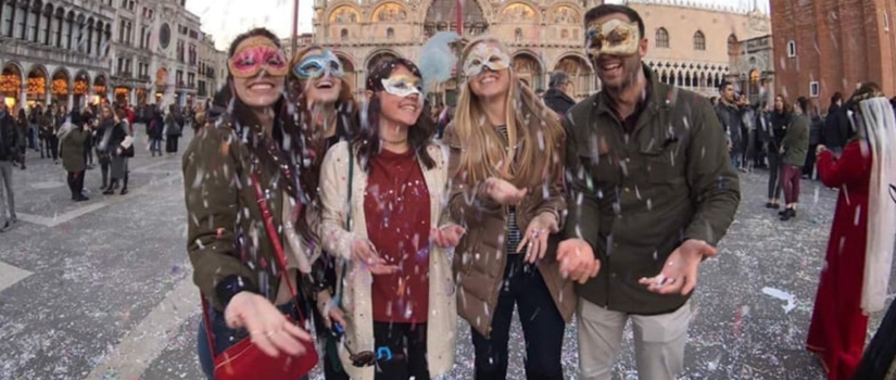
<path fill-rule="evenodd" d="M 166 141 L 168 156 L 177 154 L 178 139 L 185 125 L 204 123 L 204 106 L 178 107 L 167 112 L 154 104 L 140 106 L 135 112 L 127 104 L 102 101 L 83 110 L 66 112 L 64 106 L 50 104 L 46 109 L 35 104 L 26 112 L 0 105 L 0 232 L 18 221 L 15 213 L 15 192 L 12 188 L 13 167 L 27 169 L 27 152 L 40 153 L 41 160 L 62 164 L 67 173 L 72 201 L 88 201 L 84 181 L 87 170 L 98 164 L 102 176 L 100 191 L 111 195 L 115 191 L 128 193 L 128 159 L 134 157 L 135 124 L 146 126 L 148 150 L 152 156 L 163 156 L 162 141 Z"/>

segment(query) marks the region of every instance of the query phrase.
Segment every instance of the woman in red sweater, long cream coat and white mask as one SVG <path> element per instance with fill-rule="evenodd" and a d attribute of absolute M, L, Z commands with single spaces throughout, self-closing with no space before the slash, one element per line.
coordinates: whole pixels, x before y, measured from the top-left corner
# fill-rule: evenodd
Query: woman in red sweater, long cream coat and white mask
<path fill-rule="evenodd" d="M 348 316 L 340 357 L 355 380 L 430 379 L 454 363 L 455 288 L 444 250 L 465 231 L 443 207 L 447 162 L 432 141 L 433 121 L 420 117 L 429 113 L 416 65 L 380 63 L 365 94 L 361 130 L 329 150 L 320 173 L 323 245 L 345 264 L 337 281 Z M 371 351 L 376 370 L 357 363 Z"/>

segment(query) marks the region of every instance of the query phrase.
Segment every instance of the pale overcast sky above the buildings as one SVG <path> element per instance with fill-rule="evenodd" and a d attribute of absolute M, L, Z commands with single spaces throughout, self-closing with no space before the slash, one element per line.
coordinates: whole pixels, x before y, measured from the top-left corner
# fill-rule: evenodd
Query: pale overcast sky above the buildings
<path fill-rule="evenodd" d="M 752 8 L 754 0 L 689 1 Z M 768 10 L 768 0 L 758 2 L 760 8 Z M 299 0 L 299 31 L 311 31 L 314 0 Z M 226 49 L 234 37 L 254 26 L 266 26 L 278 36 L 288 37 L 292 31 L 292 5 L 293 0 L 187 0 L 187 9 L 199 15 L 202 30 L 215 37 L 218 49 Z"/>

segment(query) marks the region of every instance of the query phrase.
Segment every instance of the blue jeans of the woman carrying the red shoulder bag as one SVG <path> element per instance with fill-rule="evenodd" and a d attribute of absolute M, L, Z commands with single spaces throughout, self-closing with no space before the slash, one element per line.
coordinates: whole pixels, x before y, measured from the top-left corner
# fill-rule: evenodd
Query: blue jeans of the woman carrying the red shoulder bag
<path fill-rule="evenodd" d="M 295 312 L 292 303 L 277 306 L 281 313 L 289 313 L 293 318 L 298 318 L 299 314 Z M 249 332 L 245 329 L 231 329 L 227 327 L 227 321 L 224 320 L 224 314 L 216 311 L 209 305 L 209 317 L 212 320 L 212 333 L 215 340 L 215 353 L 227 350 L 229 346 L 236 344 L 244 338 L 249 338 Z M 199 354 L 199 364 L 202 365 L 202 371 L 209 380 L 214 380 L 215 360 L 212 355 L 211 347 L 209 347 L 209 338 L 205 334 L 205 320 L 199 322 L 199 333 L 197 333 L 197 354 Z M 307 380 L 308 377 L 302 377 L 299 380 Z"/>

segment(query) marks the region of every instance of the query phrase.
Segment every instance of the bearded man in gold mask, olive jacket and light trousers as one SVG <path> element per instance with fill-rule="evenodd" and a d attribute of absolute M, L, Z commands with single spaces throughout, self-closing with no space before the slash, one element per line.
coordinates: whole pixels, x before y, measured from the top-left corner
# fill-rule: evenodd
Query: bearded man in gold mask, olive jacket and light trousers
<path fill-rule="evenodd" d="M 604 4 L 584 24 L 603 91 L 566 117 L 568 240 L 557 252 L 579 283 L 579 375 L 610 378 L 631 319 L 639 377 L 672 380 L 699 264 L 734 219 L 740 183 L 709 102 L 642 63 L 641 16 Z"/>

